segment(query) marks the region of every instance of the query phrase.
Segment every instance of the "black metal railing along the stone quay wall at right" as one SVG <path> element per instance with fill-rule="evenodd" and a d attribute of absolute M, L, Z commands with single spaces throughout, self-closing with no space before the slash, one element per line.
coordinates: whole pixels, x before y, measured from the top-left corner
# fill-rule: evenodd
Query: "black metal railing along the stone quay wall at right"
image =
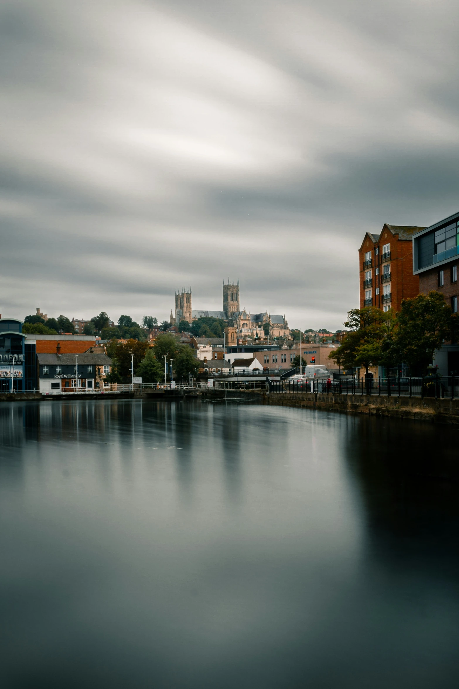
<path fill-rule="evenodd" d="M 273 393 L 329 393 L 332 395 L 385 395 L 386 397 L 459 398 L 459 377 L 426 376 L 407 378 L 341 378 L 331 380 L 266 379 L 266 386 Z"/>

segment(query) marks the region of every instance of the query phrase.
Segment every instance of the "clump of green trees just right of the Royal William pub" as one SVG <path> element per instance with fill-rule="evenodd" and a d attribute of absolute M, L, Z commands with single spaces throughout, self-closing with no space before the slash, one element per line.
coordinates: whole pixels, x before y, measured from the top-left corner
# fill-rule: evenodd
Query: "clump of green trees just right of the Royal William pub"
<path fill-rule="evenodd" d="M 190 347 L 180 344 L 171 333 L 161 333 L 155 345 L 149 347 L 147 342 L 130 339 L 127 342 L 112 340 L 107 347 L 107 354 L 112 360 L 112 370 L 107 377 L 109 382 L 121 382 L 122 377 L 131 372 L 132 355 L 134 355 L 134 373 L 142 376 L 145 383 L 156 383 L 164 380 L 164 355 L 169 366 L 173 360 L 174 380 L 187 380 L 197 376 L 202 362 L 193 355 Z"/>

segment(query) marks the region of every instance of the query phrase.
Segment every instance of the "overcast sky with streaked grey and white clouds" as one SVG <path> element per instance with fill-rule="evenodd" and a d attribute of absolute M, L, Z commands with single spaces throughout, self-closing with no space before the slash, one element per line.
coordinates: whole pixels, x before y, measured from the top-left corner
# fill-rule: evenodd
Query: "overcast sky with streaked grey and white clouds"
<path fill-rule="evenodd" d="M 0 312 L 337 329 L 383 223 L 459 208 L 459 6 L 0 0 Z"/>

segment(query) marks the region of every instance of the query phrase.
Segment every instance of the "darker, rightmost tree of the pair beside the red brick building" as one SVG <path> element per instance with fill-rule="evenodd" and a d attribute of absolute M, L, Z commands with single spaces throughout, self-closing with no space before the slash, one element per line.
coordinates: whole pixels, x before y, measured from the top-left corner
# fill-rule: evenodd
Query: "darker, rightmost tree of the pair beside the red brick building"
<path fill-rule="evenodd" d="M 403 361 L 411 369 L 424 372 L 443 340 L 454 338 L 456 323 L 457 317 L 439 292 L 404 299 L 397 313 L 398 327 L 389 355 L 392 360 Z"/>

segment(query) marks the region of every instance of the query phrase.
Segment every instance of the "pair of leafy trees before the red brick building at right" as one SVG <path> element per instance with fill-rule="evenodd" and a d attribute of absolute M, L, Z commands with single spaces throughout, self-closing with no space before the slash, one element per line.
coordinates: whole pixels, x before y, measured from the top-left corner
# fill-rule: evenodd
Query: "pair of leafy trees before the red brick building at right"
<path fill-rule="evenodd" d="M 351 309 L 341 345 L 329 358 L 343 369 L 370 366 L 388 368 L 405 364 L 413 376 L 423 375 L 434 351 L 445 341 L 456 341 L 458 314 L 451 311 L 442 294 L 432 291 L 405 299 L 397 313 L 375 307 Z"/>

